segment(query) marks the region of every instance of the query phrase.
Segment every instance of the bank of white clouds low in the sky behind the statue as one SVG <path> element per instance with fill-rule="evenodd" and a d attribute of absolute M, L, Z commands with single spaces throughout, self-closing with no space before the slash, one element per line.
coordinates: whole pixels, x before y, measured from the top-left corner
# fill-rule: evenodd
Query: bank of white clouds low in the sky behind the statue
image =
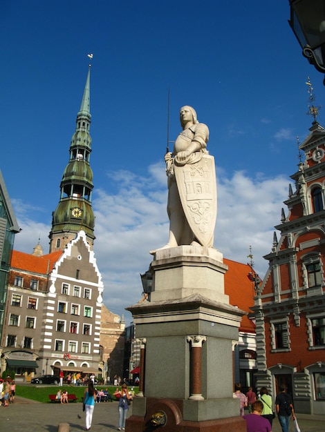
<path fill-rule="evenodd" d="M 229 177 L 219 167 L 216 173 L 214 246 L 224 257 L 245 263 L 252 245 L 255 268 L 263 275 L 268 266 L 263 255 L 272 248 L 273 227 L 280 222 L 289 181 L 284 176 L 264 178 L 261 173 L 252 178 L 243 171 Z M 149 251 L 167 242 L 167 181 L 163 164 L 149 166 L 143 177 L 129 171 L 109 173 L 108 177 L 107 189 L 97 188 L 93 195 L 94 251 L 105 286 L 104 304 L 114 313 L 124 313 L 129 322 L 131 315 L 124 308 L 141 298 L 140 273 L 149 267 Z M 114 194 L 109 193 L 110 182 Z M 16 236 L 15 249 L 31 253 L 40 233 L 44 253 L 48 253 L 45 238 L 50 226 L 26 216 L 35 215 L 35 209 L 20 202 L 17 210 L 16 204 L 13 202 L 23 230 Z"/>

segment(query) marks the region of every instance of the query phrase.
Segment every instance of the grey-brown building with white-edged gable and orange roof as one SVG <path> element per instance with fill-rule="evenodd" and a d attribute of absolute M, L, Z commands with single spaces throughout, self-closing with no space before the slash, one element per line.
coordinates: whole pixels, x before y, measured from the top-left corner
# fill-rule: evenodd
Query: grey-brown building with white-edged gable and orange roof
<path fill-rule="evenodd" d="M 80 231 L 64 252 L 13 251 L 1 371 L 100 373 L 102 277 Z M 17 377 L 19 380 L 19 377 Z"/>

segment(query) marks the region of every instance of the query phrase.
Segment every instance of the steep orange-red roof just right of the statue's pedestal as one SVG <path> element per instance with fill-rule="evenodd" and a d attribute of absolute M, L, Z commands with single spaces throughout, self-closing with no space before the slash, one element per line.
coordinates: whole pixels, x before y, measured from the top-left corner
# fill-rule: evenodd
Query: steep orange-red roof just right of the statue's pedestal
<path fill-rule="evenodd" d="M 250 306 L 254 305 L 254 286 L 248 274 L 252 271 L 248 264 L 223 259 L 224 264 L 228 265 L 225 273 L 225 294 L 229 295 L 229 302 L 232 306 L 238 306 L 245 312 L 251 312 Z M 244 315 L 241 320 L 240 331 L 255 332 L 255 325 Z"/>

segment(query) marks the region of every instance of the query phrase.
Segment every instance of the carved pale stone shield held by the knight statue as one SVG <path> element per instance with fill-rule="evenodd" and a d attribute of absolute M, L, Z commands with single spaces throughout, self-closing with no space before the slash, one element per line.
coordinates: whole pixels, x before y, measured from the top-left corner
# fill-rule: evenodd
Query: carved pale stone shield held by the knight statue
<path fill-rule="evenodd" d="M 203 246 L 211 248 L 216 225 L 216 169 L 214 157 L 203 155 L 194 164 L 174 165 L 180 202 L 187 222 Z"/>

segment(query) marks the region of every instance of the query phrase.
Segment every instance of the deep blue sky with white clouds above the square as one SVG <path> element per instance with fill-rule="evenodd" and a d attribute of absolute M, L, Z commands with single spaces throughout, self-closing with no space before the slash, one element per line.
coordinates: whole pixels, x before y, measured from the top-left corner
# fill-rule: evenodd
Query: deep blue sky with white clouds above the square
<path fill-rule="evenodd" d="M 322 75 L 273 0 L 3 0 L 0 6 L 0 169 L 19 222 L 15 248 L 48 252 L 51 215 L 75 130 L 89 59 L 94 251 L 104 303 L 125 314 L 139 300 L 149 250 L 167 241 L 163 157 L 193 106 L 210 128 L 218 216 L 214 246 L 261 275 L 274 226 L 312 119 L 309 76 Z M 322 124 L 322 111 L 319 122 Z"/>

